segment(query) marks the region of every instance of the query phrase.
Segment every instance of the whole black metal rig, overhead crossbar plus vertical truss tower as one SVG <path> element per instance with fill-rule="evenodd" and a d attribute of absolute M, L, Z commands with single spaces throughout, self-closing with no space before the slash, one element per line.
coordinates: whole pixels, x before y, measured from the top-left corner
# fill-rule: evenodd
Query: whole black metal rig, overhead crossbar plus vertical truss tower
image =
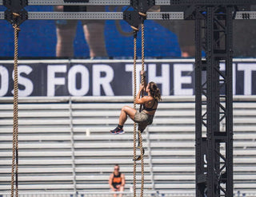
<path fill-rule="evenodd" d="M 139 26 L 142 20 L 194 20 L 195 22 L 195 156 L 196 196 L 231 197 L 233 186 L 233 21 L 255 19 L 250 11 L 255 0 L 0 0 L 6 6 L 0 19 L 20 25 L 27 19 L 126 20 Z M 133 12 L 27 12 L 24 7 L 41 6 L 132 6 Z M 152 6 L 167 12 L 148 12 Z M 146 14 L 142 18 L 138 12 Z M 14 16 L 13 13 L 18 13 Z M 202 51 L 206 58 L 202 59 Z M 225 71 L 220 70 L 220 62 Z M 206 72 L 203 81 L 202 73 Z M 220 130 L 224 122 L 225 128 Z"/>

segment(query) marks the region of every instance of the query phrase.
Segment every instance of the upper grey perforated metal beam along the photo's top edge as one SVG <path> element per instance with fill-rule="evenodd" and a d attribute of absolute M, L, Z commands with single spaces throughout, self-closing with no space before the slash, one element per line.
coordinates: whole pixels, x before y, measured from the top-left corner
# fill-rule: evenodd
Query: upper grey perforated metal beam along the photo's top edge
<path fill-rule="evenodd" d="M 0 0 L 2 5 L 2 0 Z M 130 0 L 89 0 L 89 2 L 64 2 L 64 0 L 28 0 L 29 6 L 129 6 Z M 155 0 L 155 5 L 170 5 L 170 0 Z"/>

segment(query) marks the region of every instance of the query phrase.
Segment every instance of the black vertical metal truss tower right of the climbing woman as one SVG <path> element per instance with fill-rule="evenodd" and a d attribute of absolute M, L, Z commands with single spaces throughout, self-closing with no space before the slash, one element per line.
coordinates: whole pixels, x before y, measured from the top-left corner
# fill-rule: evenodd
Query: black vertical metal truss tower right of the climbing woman
<path fill-rule="evenodd" d="M 233 196 L 233 13 L 234 6 L 198 7 L 195 13 L 198 197 Z M 206 60 L 202 60 L 202 50 Z M 220 124 L 226 125 L 224 131 Z"/>

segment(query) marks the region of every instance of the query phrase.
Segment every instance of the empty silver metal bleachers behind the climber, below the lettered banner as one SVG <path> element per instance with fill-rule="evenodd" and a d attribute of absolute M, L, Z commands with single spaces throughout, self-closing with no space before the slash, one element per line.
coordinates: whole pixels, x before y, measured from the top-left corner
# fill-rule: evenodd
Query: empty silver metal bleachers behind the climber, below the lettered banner
<path fill-rule="evenodd" d="M 109 132 L 118 124 L 123 105 L 132 107 L 132 98 L 20 99 L 19 190 L 109 191 L 109 175 L 119 164 L 129 191 L 133 122 L 127 120 L 124 135 Z M 154 123 L 142 134 L 145 191 L 194 194 L 194 108 L 194 97 L 164 97 L 159 104 Z M 12 110 L 12 99 L 0 98 L 0 195 L 10 191 Z M 256 99 L 234 97 L 234 191 L 256 194 L 255 118 Z M 139 188 L 139 164 L 137 171 Z"/>

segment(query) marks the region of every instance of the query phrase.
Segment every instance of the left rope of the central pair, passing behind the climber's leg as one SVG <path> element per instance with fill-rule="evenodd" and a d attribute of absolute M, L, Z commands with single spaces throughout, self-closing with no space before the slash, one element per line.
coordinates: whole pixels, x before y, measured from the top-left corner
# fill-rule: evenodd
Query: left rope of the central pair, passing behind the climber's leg
<path fill-rule="evenodd" d="M 137 30 L 134 30 L 134 109 L 136 109 Z M 136 197 L 136 123 L 134 122 L 134 197 Z"/>

